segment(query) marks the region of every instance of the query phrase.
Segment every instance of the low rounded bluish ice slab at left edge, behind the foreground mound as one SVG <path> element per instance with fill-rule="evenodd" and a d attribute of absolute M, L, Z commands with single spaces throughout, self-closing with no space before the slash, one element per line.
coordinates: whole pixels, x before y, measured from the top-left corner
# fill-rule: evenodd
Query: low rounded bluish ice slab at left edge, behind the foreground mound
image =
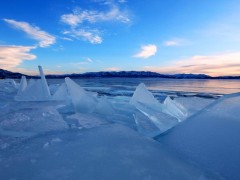
<path fill-rule="evenodd" d="M 24 136 L 24 133 L 64 130 L 67 129 L 67 124 L 54 107 L 45 106 L 6 113 L 1 117 L 0 128 L 0 134 Z"/>

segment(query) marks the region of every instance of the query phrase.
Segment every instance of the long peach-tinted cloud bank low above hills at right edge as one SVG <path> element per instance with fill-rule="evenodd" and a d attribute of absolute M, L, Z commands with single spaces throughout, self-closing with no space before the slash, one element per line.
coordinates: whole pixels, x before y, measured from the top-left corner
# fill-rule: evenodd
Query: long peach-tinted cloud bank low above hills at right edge
<path fill-rule="evenodd" d="M 167 74 L 193 73 L 211 76 L 240 75 L 240 52 L 227 52 L 208 56 L 192 56 L 175 61 L 166 67 L 145 67 L 146 70 Z"/>

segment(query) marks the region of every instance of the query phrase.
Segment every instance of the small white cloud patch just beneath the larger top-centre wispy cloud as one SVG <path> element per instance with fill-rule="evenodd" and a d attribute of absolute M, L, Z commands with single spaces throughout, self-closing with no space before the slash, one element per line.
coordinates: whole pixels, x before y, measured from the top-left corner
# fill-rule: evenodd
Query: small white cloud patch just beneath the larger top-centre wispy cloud
<path fill-rule="evenodd" d="M 87 31 L 85 29 L 71 29 L 69 31 L 64 31 L 63 34 L 68 34 L 74 38 L 89 41 L 92 44 L 101 44 L 103 41 L 97 30 Z"/>

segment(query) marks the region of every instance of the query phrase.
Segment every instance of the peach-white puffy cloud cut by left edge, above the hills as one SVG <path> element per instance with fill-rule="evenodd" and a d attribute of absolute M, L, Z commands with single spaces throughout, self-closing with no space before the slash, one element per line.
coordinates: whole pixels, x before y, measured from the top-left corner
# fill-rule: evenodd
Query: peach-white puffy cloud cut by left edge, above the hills
<path fill-rule="evenodd" d="M 35 48 L 35 46 L 0 46 L 0 67 L 11 69 L 24 60 L 36 59 L 35 55 L 29 53 Z"/>

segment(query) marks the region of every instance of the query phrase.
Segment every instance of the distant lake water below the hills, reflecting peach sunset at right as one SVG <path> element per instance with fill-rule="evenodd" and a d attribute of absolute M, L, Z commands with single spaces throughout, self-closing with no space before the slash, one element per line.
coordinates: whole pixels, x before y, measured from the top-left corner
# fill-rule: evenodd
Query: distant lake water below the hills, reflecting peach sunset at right
<path fill-rule="evenodd" d="M 64 79 L 49 79 L 49 83 L 62 83 Z M 198 92 L 229 94 L 240 91 L 240 80 L 231 79 L 161 79 L 161 78 L 89 78 L 74 79 L 82 87 L 111 91 L 134 91 L 144 83 L 149 90 L 161 92 Z"/>

